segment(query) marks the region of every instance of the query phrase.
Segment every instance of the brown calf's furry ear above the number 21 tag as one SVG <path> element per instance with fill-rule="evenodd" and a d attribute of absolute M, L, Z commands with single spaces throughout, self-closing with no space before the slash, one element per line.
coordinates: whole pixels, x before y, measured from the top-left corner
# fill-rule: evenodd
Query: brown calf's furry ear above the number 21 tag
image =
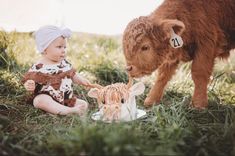
<path fill-rule="evenodd" d="M 165 32 L 168 38 L 172 35 L 172 30 L 177 34 L 181 35 L 185 30 L 185 25 L 182 21 L 176 19 L 165 19 L 161 20 L 160 27 Z"/>

